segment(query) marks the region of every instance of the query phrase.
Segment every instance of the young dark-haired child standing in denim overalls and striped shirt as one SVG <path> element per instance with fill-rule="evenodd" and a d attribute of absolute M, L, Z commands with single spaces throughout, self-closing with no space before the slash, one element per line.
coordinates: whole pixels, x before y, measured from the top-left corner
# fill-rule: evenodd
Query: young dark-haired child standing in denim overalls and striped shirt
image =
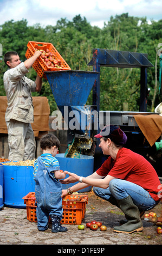
<path fill-rule="evenodd" d="M 37 227 L 40 231 L 47 230 L 50 216 L 51 232 L 64 232 L 67 228 L 60 224 L 63 209 L 59 179 L 64 179 L 66 174 L 60 172 L 59 162 L 55 158 L 60 141 L 56 136 L 47 134 L 41 137 L 40 146 L 43 154 L 34 163 Z"/>

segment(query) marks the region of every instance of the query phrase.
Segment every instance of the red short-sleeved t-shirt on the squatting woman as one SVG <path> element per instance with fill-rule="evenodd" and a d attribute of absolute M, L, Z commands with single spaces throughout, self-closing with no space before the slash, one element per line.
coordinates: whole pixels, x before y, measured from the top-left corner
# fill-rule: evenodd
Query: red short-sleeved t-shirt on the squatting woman
<path fill-rule="evenodd" d="M 147 190 L 155 201 L 162 197 L 162 193 L 158 196 L 158 192 L 162 192 L 162 185 L 157 172 L 143 156 L 130 149 L 119 149 L 115 160 L 109 156 L 96 173 L 133 182 Z"/>

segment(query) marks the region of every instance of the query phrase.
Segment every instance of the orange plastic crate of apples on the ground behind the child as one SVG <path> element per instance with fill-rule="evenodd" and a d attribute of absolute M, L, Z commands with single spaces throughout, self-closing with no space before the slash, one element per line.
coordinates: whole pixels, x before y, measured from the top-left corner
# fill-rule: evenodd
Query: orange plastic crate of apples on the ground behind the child
<path fill-rule="evenodd" d="M 30 222 L 37 222 L 35 193 L 30 192 L 23 197 L 24 204 L 27 205 L 27 220 Z M 83 194 L 70 194 L 62 200 L 62 220 L 63 224 L 79 225 L 85 217 L 86 204 L 88 203 L 88 196 Z M 49 218 L 49 223 L 51 222 Z"/>

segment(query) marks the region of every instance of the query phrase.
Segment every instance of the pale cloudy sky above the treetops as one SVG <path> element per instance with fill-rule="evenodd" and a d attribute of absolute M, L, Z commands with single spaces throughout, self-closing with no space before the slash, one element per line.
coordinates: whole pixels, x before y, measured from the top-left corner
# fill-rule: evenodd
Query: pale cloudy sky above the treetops
<path fill-rule="evenodd" d="M 0 0 L 0 25 L 26 19 L 29 26 L 55 26 L 61 18 L 72 21 L 80 14 L 90 25 L 102 28 L 111 16 L 123 13 L 158 21 L 161 10 L 162 0 Z"/>

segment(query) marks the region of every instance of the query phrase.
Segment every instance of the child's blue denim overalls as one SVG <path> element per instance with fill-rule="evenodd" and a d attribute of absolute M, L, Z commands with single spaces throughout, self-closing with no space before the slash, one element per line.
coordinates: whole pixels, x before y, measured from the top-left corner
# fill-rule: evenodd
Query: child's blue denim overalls
<path fill-rule="evenodd" d="M 54 167 L 44 167 L 40 157 L 35 176 L 35 197 L 37 202 L 37 227 L 39 230 L 48 228 L 48 216 L 54 214 L 62 220 L 62 185 L 53 177 Z"/>

